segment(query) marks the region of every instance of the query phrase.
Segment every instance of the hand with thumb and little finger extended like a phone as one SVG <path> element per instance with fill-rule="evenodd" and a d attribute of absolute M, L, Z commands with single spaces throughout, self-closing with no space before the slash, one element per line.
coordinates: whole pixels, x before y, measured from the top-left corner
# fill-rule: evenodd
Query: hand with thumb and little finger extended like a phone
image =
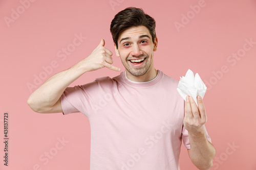
<path fill-rule="evenodd" d="M 113 53 L 106 47 L 104 47 L 105 41 L 101 39 L 99 45 L 87 58 L 83 59 L 82 62 L 86 63 L 87 71 L 94 71 L 103 67 L 112 69 L 114 71 L 120 71 L 121 69 L 112 65 Z"/>

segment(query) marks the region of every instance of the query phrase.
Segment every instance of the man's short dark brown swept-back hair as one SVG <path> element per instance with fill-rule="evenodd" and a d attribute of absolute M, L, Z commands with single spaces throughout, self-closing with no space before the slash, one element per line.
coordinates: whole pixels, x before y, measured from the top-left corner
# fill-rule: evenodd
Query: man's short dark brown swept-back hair
<path fill-rule="evenodd" d="M 150 15 L 144 13 L 143 9 L 128 7 L 118 12 L 114 19 L 111 21 L 110 32 L 113 37 L 113 41 L 118 48 L 118 37 L 124 30 L 130 27 L 145 26 L 152 36 L 152 41 L 155 41 L 156 37 L 156 21 Z"/>

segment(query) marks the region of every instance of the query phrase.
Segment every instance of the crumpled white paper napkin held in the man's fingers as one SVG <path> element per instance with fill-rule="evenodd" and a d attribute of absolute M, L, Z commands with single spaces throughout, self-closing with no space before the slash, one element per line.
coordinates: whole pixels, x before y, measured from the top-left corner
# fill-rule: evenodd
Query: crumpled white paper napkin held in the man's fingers
<path fill-rule="evenodd" d="M 186 96 L 192 96 L 197 106 L 197 96 L 200 95 L 203 99 L 207 87 L 204 82 L 201 80 L 200 76 L 196 74 L 194 78 L 194 73 L 190 69 L 187 70 L 185 77 L 180 78 L 178 84 L 178 92 L 182 98 L 186 101 Z"/>

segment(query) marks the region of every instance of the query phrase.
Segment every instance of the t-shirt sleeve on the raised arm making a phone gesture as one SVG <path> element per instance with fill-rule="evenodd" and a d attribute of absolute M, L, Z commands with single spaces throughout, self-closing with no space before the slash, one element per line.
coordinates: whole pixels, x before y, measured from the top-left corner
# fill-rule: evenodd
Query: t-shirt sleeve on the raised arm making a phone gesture
<path fill-rule="evenodd" d="M 90 116 L 92 106 L 98 96 L 98 82 L 95 80 L 84 85 L 67 87 L 60 96 L 60 104 L 63 115 L 81 112 Z"/>

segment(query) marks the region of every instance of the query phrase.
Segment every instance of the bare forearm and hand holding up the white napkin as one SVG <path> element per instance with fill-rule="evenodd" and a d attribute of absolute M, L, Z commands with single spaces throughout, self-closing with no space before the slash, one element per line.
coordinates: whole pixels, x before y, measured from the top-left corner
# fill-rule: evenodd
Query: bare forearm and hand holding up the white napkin
<path fill-rule="evenodd" d="M 186 98 L 184 127 L 188 131 L 190 150 L 188 155 L 191 161 L 201 170 L 208 170 L 212 166 L 212 160 L 216 151 L 206 138 L 203 125 L 207 117 L 201 97 L 198 96 L 198 107 L 190 97 Z"/>

